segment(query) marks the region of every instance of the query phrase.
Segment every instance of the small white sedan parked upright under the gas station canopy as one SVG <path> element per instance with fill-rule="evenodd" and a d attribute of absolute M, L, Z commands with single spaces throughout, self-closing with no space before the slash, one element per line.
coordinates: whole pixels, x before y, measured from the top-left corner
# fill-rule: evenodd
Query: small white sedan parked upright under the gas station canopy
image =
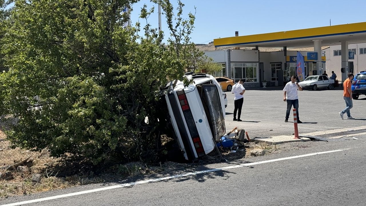
<path fill-rule="evenodd" d="M 313 89 L 313 90 L 317 90 L 318 88 L 332 89 L 333 84 L 334 80 L 329 79 L 325 75 L 309 76 L 304 81 L 299 82 L 299 85 L 303 89 Z"/>

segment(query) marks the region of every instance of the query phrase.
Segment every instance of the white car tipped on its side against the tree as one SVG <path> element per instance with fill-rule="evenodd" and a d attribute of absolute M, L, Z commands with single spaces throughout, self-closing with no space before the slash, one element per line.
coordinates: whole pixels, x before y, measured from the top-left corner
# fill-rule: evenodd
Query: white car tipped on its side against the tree
<path fill-rule="evenodd" d="M 213 76 L 186 73 L 193 83 L 169 84 L 165 100 L 176 141 L 186 160 L 211 152 L 225 134 L 225 93 Z"/>

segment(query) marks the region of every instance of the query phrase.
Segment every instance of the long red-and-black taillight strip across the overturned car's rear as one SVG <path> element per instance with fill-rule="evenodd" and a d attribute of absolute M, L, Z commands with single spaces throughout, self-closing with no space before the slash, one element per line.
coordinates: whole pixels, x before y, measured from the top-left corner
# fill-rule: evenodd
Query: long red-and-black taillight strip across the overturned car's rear
<path fill-rule="evenodd" d="M 203 155 L 205 155 L 205 150 L 203 149 L 201 138 L 199 138 L 197 127 L 194 122 L 192 112 L 190 111 L 186 93 L 184 93 L 183 89 L 180 89 L 177 91 L 177 95 L 180 107 L 182 107 L 184 119 L 186 119 L 187 127 L 191 135 L 197 156 L 202 157 Z"/>

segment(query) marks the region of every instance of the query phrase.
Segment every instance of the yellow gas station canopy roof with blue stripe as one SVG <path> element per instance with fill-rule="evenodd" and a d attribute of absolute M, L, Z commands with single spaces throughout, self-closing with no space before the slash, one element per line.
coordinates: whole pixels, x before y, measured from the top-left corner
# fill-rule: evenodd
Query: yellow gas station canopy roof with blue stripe
<path fill-rule="evenodd" d="M 217 38 L 215 47 L 261 47 L 261 48 L 304 48 L 314 47 L 314 40 L 321 40 L 322 46 L 366 42 L 366 22 L 310 29 L 299 29 L 248 36 Z"/>

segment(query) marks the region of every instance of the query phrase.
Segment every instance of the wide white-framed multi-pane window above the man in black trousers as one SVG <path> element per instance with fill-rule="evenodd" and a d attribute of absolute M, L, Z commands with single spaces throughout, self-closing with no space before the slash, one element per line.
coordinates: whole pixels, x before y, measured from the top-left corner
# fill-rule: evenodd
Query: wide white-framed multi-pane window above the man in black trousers
<path fill-rule="evenodd" d="M 243 79 L 244 82 L 258 82 L 258 63 L 231 63 L 231 78 L 234 82 Z"/>

